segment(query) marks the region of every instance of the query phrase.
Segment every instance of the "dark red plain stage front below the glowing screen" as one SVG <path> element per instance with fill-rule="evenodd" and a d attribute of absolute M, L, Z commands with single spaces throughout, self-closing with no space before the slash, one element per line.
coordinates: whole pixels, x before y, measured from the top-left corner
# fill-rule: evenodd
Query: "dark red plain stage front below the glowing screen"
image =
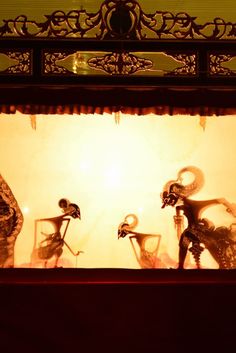
<path fill-rule="evenodd" d="M 9 352 L 234 351 L 234 270 L 2 269 Z"/>

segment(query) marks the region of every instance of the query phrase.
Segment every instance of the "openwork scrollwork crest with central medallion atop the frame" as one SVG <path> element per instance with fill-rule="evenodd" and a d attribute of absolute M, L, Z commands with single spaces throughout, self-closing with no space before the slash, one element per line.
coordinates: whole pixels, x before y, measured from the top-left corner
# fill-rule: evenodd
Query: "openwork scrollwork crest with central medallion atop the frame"
<path fill-rule="evenodd" d="M 30 20 L 25 15 L 4 20 L 0 37 L 57 37 L 95 39 L 207 39 L 236 38 L 236 23 L 215 18 L 199 24 L 197 17 L 185 12 L 144 13 L 134 0 L 105 0 L 96 13 L 84 9 L 54 11 L 45 22 Z"/>

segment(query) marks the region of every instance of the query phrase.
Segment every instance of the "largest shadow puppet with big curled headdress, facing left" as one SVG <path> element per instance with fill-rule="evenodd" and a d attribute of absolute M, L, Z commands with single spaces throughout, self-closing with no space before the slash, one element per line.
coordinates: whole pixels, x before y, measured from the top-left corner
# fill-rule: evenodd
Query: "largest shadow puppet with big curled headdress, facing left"
<path fill-rule="evenodd" d="M 183 184 L 183 174 L 191 172 L 194 180 L 187 184 Z M 236 217 L 236 205 L 229 203 L 224 198 L 216 198 L 212 200 L 192 200 L 189 197 L 197 193 L 204 184 L 204 175 L 202 171 L 194 166 L 181 169 L 178 173 L 177 180 L 169 181 L 163 189 L 162 208 L 172 206 L 176 209 L 174 216 L 175 224 L 178 227 L 183 223 L 183 215 L 187 219 L 187 227 L 179 234 L 179 269 L 184 268 L 187 251 L 192 252 L 196 267 L 201 268 L 200 256 L 204 248 L 206 248 L 219 268 L 236 268 L 236 242 L 232 245 L 231 238 L 235 233 L 235 228 L 231 226 L 215 228 L 214 224 L 206 218 L 201 218 L 203 211 L 211 206 L 222 204 L 226 207 L 226 211 L 233 217 Z M 236 237 L 235 237 L 236 238 Z M 235 239 L 236 240 L 236 239 Z M 189 245 L 191 247 L 189 248 Z M 204 246 L 203 246 L 204 245 Z"/>

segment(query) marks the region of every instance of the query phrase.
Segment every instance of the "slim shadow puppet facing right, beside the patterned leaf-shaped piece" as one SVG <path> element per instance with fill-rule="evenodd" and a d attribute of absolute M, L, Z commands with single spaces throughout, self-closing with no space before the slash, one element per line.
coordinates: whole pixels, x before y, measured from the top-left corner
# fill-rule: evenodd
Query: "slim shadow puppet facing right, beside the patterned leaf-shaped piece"
<path fill-rule="evenodd" d="M 57 267 L 58 260 L 63 253 L 63 246 L 65 245 L 72 255 L 78 256 L 82 251 L 78 251 L 75 253 L 69 244 L 65 241 L 66 232 L 70 223 L 70 218 L 79 218 L 81 219 L 80 208 L 78 205 L 74 203 L 70 203 L 67 199 L 60 199 L 58 202 L 59 207 L 62 209 L 64 213 L 58 217 L 51 218 L 42 218 L 35 220 L 35 240 L 34 240 L 34 248 L 31 255 L 31 266 L 37 264 L 37 259 L 44 261 L 44 267 L 47 267 L 48 260 L 55 257 L 54 267 Z M 40 232 L 45 239 L 40 241 L 39 246 L 37 247 L 37 233 L 38 233 L 38 225 L 39 223 L 49 222 L 53 228 L 54 232 L 51 234 L 47 234 L 44 232 Z M 65 228 L 63 234 L 61 232 L 62 225 L 65 223 Z"/>

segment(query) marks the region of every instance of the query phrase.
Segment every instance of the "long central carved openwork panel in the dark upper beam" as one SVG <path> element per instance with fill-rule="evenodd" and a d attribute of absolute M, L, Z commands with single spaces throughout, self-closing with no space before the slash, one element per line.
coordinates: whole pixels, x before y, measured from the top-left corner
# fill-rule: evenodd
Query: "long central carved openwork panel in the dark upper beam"
<path fill-rule="evenodd" d="M 165 52 L 44 52 L 44 74 L 195 76 L 197 55 Z"/>

